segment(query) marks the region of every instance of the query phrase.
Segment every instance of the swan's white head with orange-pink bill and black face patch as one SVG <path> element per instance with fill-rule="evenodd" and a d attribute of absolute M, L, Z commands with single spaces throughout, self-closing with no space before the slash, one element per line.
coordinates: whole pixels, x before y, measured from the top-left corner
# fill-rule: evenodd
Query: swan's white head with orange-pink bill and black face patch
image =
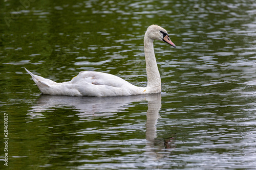
<path fill-rule="evenodd" d="M 166 42 L 167 44 L 170 44 L 170 45 L 176 47 L 176 45 L 170 40 L 167 31 L 160 26 L 152 25 L 147 28 L 146 33 L 147 33 L 148 37 L 150 37 L 152 39 L 160 40 L 160 41 Z"/>

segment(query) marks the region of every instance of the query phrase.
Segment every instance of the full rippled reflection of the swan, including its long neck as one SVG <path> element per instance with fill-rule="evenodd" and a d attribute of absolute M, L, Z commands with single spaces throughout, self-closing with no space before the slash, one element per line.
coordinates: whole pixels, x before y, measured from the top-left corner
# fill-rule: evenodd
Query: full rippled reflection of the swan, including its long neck
<path fill-rule="evenodd" d="M 86 96 L 61 96 L 61 95 L 41 95 L 35 106 L 27 113 L 30 122 L 32 119 L 45 117 L 44 112 L 55 110 L 56 108 L 69 108 L 76 112 L 75 115 L 80 120 L 91 120 L 95 117 L 113 117 L 118 112 L 123 112 L 127 108 L 134 106 L 134 102 L 147 102 L 146 112 L 146 146 L 147 152 L 144 154 L 151 158 L 158 159 L 162 154 L 157 154 L 157 150 L 168 148 L 169 140 L 157 138 L 157 120 L 161 109 L 161 93 L 132 96 L 113 97 L 86 97 Z M 154 150 L 157 148 L 157 150 Z M 159 150 L 158 150 L 159 151 Z"/>

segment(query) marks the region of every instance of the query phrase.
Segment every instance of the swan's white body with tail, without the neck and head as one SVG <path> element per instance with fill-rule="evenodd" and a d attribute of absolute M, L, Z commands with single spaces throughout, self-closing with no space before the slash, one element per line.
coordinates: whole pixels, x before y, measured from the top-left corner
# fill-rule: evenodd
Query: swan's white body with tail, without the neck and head
<path fill-rule="evenodd" d="M 145 91 L 120 77 L 104 72 L 81 71 L 71 81 L 62 83 L 33 75 L 31 72 L 29 74 L 43 94 L 114 96 L 142 94 Z"/>

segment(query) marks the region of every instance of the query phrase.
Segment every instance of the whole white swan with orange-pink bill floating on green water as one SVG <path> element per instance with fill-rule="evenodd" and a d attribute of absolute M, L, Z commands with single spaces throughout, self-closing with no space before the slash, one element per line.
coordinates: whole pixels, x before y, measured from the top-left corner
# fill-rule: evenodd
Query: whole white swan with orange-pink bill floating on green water
<path fill-rule="evenodd" d="M 166 42 L 174 47 L 165 29 L 152 25 L 144 36 L 144 53 L 146 62 L 147 86 L 137 87 L 120 77 L 97 71 L 81 71 L 71 81 L 56 83 L 52 80 L 31 75 L 42 94 L 71 96 L 117 96 L 137 95 L 161 92 L 161 78 L 154 53 L 154 40 Z"/>

